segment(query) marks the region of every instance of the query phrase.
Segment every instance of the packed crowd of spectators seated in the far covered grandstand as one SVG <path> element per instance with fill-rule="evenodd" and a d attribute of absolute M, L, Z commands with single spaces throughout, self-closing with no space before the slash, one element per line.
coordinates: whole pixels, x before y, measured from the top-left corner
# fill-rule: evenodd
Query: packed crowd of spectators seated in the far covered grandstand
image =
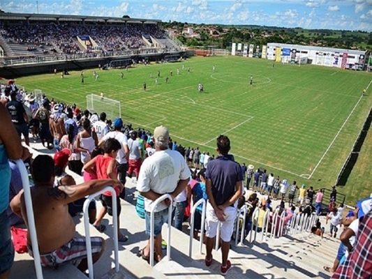
<path fill-rule="evenodd" d="M 40 47 L 47 52 L 48 48 L 60 54 L 134 50 L 149 47 L 142 36 L 165 37 L 164 31 L 156 24 L 104 25 L 74 22 L 50 24 L 50 22 L 43 21 L 36 24 L 0 22 L 0 35 L 8 42 L 27 45 L 29 50 L 36 50 Z M 86 48 L 82 47 L 78 43 L 77 36 L 90 36 L 97 45 L 90 40 L 84 40 Z"/>

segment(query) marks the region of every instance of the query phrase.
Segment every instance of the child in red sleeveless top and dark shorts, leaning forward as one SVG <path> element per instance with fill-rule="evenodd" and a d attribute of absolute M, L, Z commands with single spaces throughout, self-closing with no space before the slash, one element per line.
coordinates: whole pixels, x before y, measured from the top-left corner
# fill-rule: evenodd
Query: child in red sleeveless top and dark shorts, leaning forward
<path fill-rule="evenodd" d="M 114 138 L 108 139 L 105 144 L 103 145 L 103 151 L 105 152 L 103 155 L 98 155 L 96 158 L 91 159 L 85 166 L 84 171 L 89 172 L 90 174 L 97 174 L 98 179 L 113 179 L 120 183 L 117 179 L 117 153 L 121 149 L 121 144 L 115 140 Z M 94 170 L 96 167 L 96 170 Z M 115 192 L 117 193 L 117 229 L 118 229 L 118 237 L 120 242 L 126 242 L 128 240 L 128 236 L 124 236 L 120 232 L 120 225 L 119 225 L 119 216 L 121 212 L 121 205 L 119 200 L 119 188 L 114 188 Z M 112 194 L 110 191 L 104 192 L 100 196 L 103 208 L 101 209 L 100 213 L 98 213 L 98 217 L 96 222 L 94 223 L 95 227 L 100 227 L 103 217 L 108 213 L 108 215 L 113 216 L 112 212 Z"/>

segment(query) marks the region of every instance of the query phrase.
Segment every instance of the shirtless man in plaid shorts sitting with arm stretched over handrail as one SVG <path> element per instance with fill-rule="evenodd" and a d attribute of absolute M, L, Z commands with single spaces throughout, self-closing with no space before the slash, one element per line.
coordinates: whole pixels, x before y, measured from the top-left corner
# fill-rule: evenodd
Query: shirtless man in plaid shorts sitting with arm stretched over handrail
<path fill-rule="evenodd" d="M 41 264 L 57 267 L 64 262 L 70 262 L 81 271 L 87 270 L 85 238 L 75 236 L 75 223 L 68 214 L 68 203 L 103 190 L 106 186 L 117 186 L 122 190 L 122 184 L 112 179 L 102 179 L 80 185 L 53 188 L 54 161 L 47 155 L 37 156 L 31 169 L 35 186 L 30 190 Z M 12 199 L 10 206 L 14 213 L 24 218 L 29 229 L 23 190 Z M 29 234 L 27 234 L 27 246 L 29 254 L 33 256 Z M 96 262 L 103 255 L 105 241 L 101 237 L 92 237 L 91 248 L 93 262 Z"/>

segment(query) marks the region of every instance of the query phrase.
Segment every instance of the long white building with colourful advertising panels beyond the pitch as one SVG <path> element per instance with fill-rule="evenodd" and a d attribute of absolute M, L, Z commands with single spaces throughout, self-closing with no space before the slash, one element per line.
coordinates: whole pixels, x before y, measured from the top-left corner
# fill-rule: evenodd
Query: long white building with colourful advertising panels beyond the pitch
<path fill-rule="evenodd" d="M 282 63 L 309 63 L 319 66 L 363 70 L 368 62 L 365 50 L 268 43 L 266 58 Z"/>

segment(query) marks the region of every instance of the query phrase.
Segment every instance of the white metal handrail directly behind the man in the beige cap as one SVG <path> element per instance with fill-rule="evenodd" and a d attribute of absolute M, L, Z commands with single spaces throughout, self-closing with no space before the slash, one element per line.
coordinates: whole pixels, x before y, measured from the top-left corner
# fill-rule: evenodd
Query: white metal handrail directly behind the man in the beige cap
<path fill-rule="evenodd" d="M 168 207 L 168 239 L 167 239 L 167 259 L 170 261 L 170 228 L 172 225 L 172 204 L 173 199 L 170 194 L 164 194 L 161 197 L 158 197 L 152 204 L 150 211 L 150 265 L 154 266 L 154 230 L 155 230 L 155 209 L 158 204 L 163 202 L 164 199 L 170 199 L 170 206 Z"/>

